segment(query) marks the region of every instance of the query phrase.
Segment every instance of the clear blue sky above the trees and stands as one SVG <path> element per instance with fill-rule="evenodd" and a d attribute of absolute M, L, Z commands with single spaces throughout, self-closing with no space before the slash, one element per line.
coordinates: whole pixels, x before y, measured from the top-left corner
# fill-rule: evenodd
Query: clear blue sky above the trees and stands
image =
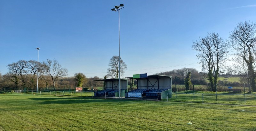
<path fill-rule="evenodd" d="M 256 23 L 255 0 L 0 0 L 0 71 L 19 60 L 56 59 L 69 76 L 103 78 L 120 56 L 123 77 L 201 70 L 192 42 L 207 32 L 228 39 L 236 23 Z"/>

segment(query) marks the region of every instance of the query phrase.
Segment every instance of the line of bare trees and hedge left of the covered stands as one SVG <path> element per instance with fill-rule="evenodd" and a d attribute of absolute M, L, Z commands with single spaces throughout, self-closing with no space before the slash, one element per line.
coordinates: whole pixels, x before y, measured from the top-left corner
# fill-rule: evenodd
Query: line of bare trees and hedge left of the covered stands
<path fill-rule="evenodd" d="M 0 90 L 36 90 L 38 75 L 38 90 L 66 90 L 74 89 L 77 86 L 75 77 L 67 77 L 68 70 L 63 68 L 57 60 L 37 61 L 19 60 L 7 65 L 9 72 L 0 73 Z M 97 76 L 86 78 L 82 87 L 102 87 L 103 82 L 98 82 Z"/>

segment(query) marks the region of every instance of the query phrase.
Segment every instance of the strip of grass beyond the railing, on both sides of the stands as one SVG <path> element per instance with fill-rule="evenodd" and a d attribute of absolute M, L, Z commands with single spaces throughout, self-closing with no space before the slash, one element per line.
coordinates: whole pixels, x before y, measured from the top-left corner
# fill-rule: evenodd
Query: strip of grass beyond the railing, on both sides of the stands
<path fill-rule="evenodd" d="M 32 92 L 30 92 L 32 94 Z M 34 93 L 35 94 L 35 93 Z M 56 95 L 56 96 L 78 96 L 78 97 L 91 97 L 94 96 L 94 92 L 82 92 L 75 93 L 74 91 L 51 91 L 51 92 L 41 92 L 40 95 Z M 39 95 L 39 94 L 37 94 Z M 163 94 L 162 94 L 163 95 Z M 170 95 L 170 94 L 168 94 Z M 204 96 L 204 97 L 203 97 Z M 106 96 L 107 98 L 108 96 Z M 105 97 L 102 96 L 104 99 Z M 147 99 L 146 96 L 143 99 Z M 156 99 L 156 98 L 155 98 Z M 167 101 L 167 99 L 162 99 L 161 101 Z M 217 92 L 217 101 L 215 92 L 212 91 L 180 91 L 173 92 L 173 99 L 169 99 L 168 101 L 173 102 L 197 102 L 197 103 L 214 103 L 214 104 L 235 104 L 235 105 L 256 105 L 256 94 L 250 93 L 246 94 L 244 98 L 244 93 L 229 93 L 228 91 Z"/>

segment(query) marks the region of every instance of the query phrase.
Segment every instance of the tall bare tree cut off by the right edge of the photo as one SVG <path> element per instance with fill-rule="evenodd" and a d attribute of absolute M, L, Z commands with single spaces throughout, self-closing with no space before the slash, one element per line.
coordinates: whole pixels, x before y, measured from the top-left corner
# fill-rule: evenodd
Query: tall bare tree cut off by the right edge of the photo
<path fill-rule="evenodd" d="M 244 60 L 248 68 L 248 84 L 252 91 L 256 92 L 255 61 L 256 61 L 256 24 L 247 21 L 237 23 L 237 27 L 231 32 L 229 38 L 236 51 L 238 59 Z M 242 62 L 242 63 L 244 63 Z M 241 64 L 242 64 L 241 63 Z"/>

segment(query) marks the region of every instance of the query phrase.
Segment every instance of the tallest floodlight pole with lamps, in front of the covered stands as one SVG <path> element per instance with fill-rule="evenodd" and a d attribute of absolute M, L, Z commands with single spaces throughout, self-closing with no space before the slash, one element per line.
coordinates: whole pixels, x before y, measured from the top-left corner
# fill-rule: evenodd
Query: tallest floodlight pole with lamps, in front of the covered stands
<path fill-rule="evenodd" d="M 119 6 L 116 5 L 115 8 L 111 9 L 112 11 L 118 11 L 118 33 L 119 33 L 119 97 L 121 97 L 121 80 L 120 80 L 120 13 L 119 13 L 119 10 L 123 9 L 124 8 L 124 4 L 120 4 Z"/>

